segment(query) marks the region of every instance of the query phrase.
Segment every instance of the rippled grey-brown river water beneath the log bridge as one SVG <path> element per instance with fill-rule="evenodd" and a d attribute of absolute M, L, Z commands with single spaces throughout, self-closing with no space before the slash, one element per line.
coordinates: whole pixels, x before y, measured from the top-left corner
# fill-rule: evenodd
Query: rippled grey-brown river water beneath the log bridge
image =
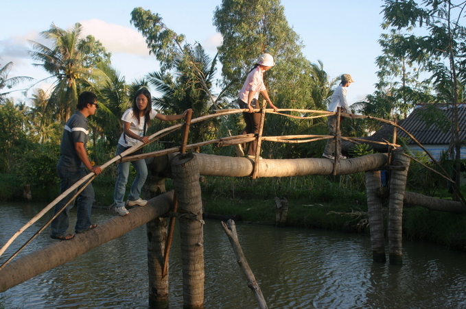
<path fill-rule="evenodd" d="M 44 206 L 2 203 L 0 245 Z M 95 223 L 113 216 L 93 210 Z M 46 219 L 17 238 L 0 262 Z M 57 241 L 49 238 L 49 231 L 24 252 Z M 183 308 L 177 232 L 170 252 L 172 309 Z M 369 236 L 246 223 L 237 223 L 237 232 L 269 308 L 466 308 L 466 254 L 460 252 L 404 242 L 404 264 L 393 266 L 372 261 Z M 0 309 L 148 308 L 147 286 L 142 226 L 0 293 Z M 258 308 L 220 221 L 205 224 L 205 308 Z"/>

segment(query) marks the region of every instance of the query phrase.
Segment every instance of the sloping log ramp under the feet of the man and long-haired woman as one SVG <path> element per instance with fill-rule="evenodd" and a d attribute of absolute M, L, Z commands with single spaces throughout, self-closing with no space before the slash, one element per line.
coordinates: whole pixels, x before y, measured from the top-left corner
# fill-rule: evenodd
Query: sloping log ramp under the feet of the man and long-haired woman
<path fill-rule="evenodd" d="M 89 232 L 76 234 L 73 240 L 59 241 L 12 260 L 0 271 L 0 293 L 160 217 L 170 210 L 173 195 L 173 191 L 159 195 L 145 207 L 130 210 L 129 216 L 114 217 Z"/>

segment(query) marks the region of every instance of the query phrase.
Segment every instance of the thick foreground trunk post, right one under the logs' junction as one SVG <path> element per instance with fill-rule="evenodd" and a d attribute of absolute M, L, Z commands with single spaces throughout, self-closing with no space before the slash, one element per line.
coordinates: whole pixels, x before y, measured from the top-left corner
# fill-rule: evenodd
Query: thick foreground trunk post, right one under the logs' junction
<path fill-rule="evenodd" d="M 204 235 L 199 163 L 194 153 L 172 160 L 174 186 L 180 212 L 183 260 L 183 308 L 204 308 Z"/>

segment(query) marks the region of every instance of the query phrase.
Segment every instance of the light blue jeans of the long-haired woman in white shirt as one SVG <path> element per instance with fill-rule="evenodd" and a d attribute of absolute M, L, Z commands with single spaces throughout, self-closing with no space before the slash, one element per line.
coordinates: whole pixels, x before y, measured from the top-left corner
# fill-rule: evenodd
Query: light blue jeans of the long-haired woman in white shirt
<path fill-rule="evenodd" d="M 126 147 L 118 144 L 117 156 L 126 150 Z M 137 160 L 132 162 L 122 162 L 117 164 L 118 176 L 117 183 L 115 184 L 115 193 L 113 193 L 113 200 L 115 207 L 125 206 L 124 197 L 126 192 L 126 184 L 128 183 L 128 176 L 130 175 L 130 163 L 135 167 L 136 178 L 132 182 L 128 199 L 136 201 L 141 195 L 142 186 L 144 185 L 145 178 L 148 177 L 148 166 L 145 160 Z"/>

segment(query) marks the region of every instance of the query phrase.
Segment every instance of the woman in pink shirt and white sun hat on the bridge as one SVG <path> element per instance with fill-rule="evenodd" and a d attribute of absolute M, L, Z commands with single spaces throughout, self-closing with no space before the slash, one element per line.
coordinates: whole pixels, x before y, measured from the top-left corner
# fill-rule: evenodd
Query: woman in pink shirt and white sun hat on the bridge
<path fill-rule="evenodd" d="M 253 66 L 253 69 L 249 71 L 243 88 L 238 95 L 238 106 L 242 109 L 248 110 L 248 112 L 243 112 L 246 127 L 243 129 L 242 134 L 259 133 L 259 121 L 261 119 L 261 114 L 259 112 L 254 112 L 255 108 L 260 108 L 257 103 L 259 100 L 259 93 L 275 112 L 278 111 L 277 106 L 273 105 L 270 97 L 268 97 L 268 92 L 264 85 L 264 72 L 268 71 L 272 66 L 275 66 L 275 62 L 270 53 L 263 53 L 260 55 L 259 60 L 257 60 L 256 64 Z M 254 140 L 249 143 L 246 157 L 255 159 L 256 149 L 257 140 Z"/>

